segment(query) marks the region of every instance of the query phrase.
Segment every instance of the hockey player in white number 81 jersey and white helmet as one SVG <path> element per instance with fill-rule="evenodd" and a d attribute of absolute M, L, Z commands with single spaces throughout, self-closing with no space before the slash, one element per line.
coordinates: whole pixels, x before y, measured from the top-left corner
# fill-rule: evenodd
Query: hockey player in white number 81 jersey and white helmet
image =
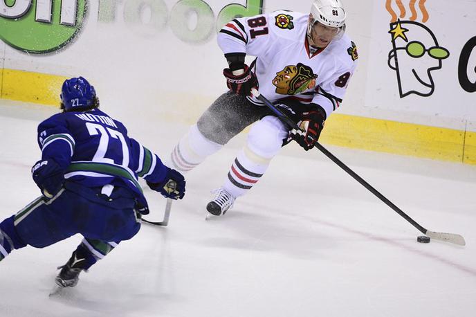
<path fill-rule="evenodd" d="M 190 171 L 255 123 L 206 207 L 210 214 L 223 215 L 246 194 L 284 144 L 295 140 L 309 150 L 318 141 L 324 121 L 342 102 L 358 58 L 345 34 L 345 17 L 342 1 L 313 0 L 311 14 L 276 11 L 234 19 L 220 30 L 217 40 L 228 61 L 223 75 L 230 91 L 202 114 L 171 154 L 176 170 Z M 246 55 L 257 58 L 248 66 Z M 290 132 L 251 96 L 253 87 L 305 134 Z"/>

